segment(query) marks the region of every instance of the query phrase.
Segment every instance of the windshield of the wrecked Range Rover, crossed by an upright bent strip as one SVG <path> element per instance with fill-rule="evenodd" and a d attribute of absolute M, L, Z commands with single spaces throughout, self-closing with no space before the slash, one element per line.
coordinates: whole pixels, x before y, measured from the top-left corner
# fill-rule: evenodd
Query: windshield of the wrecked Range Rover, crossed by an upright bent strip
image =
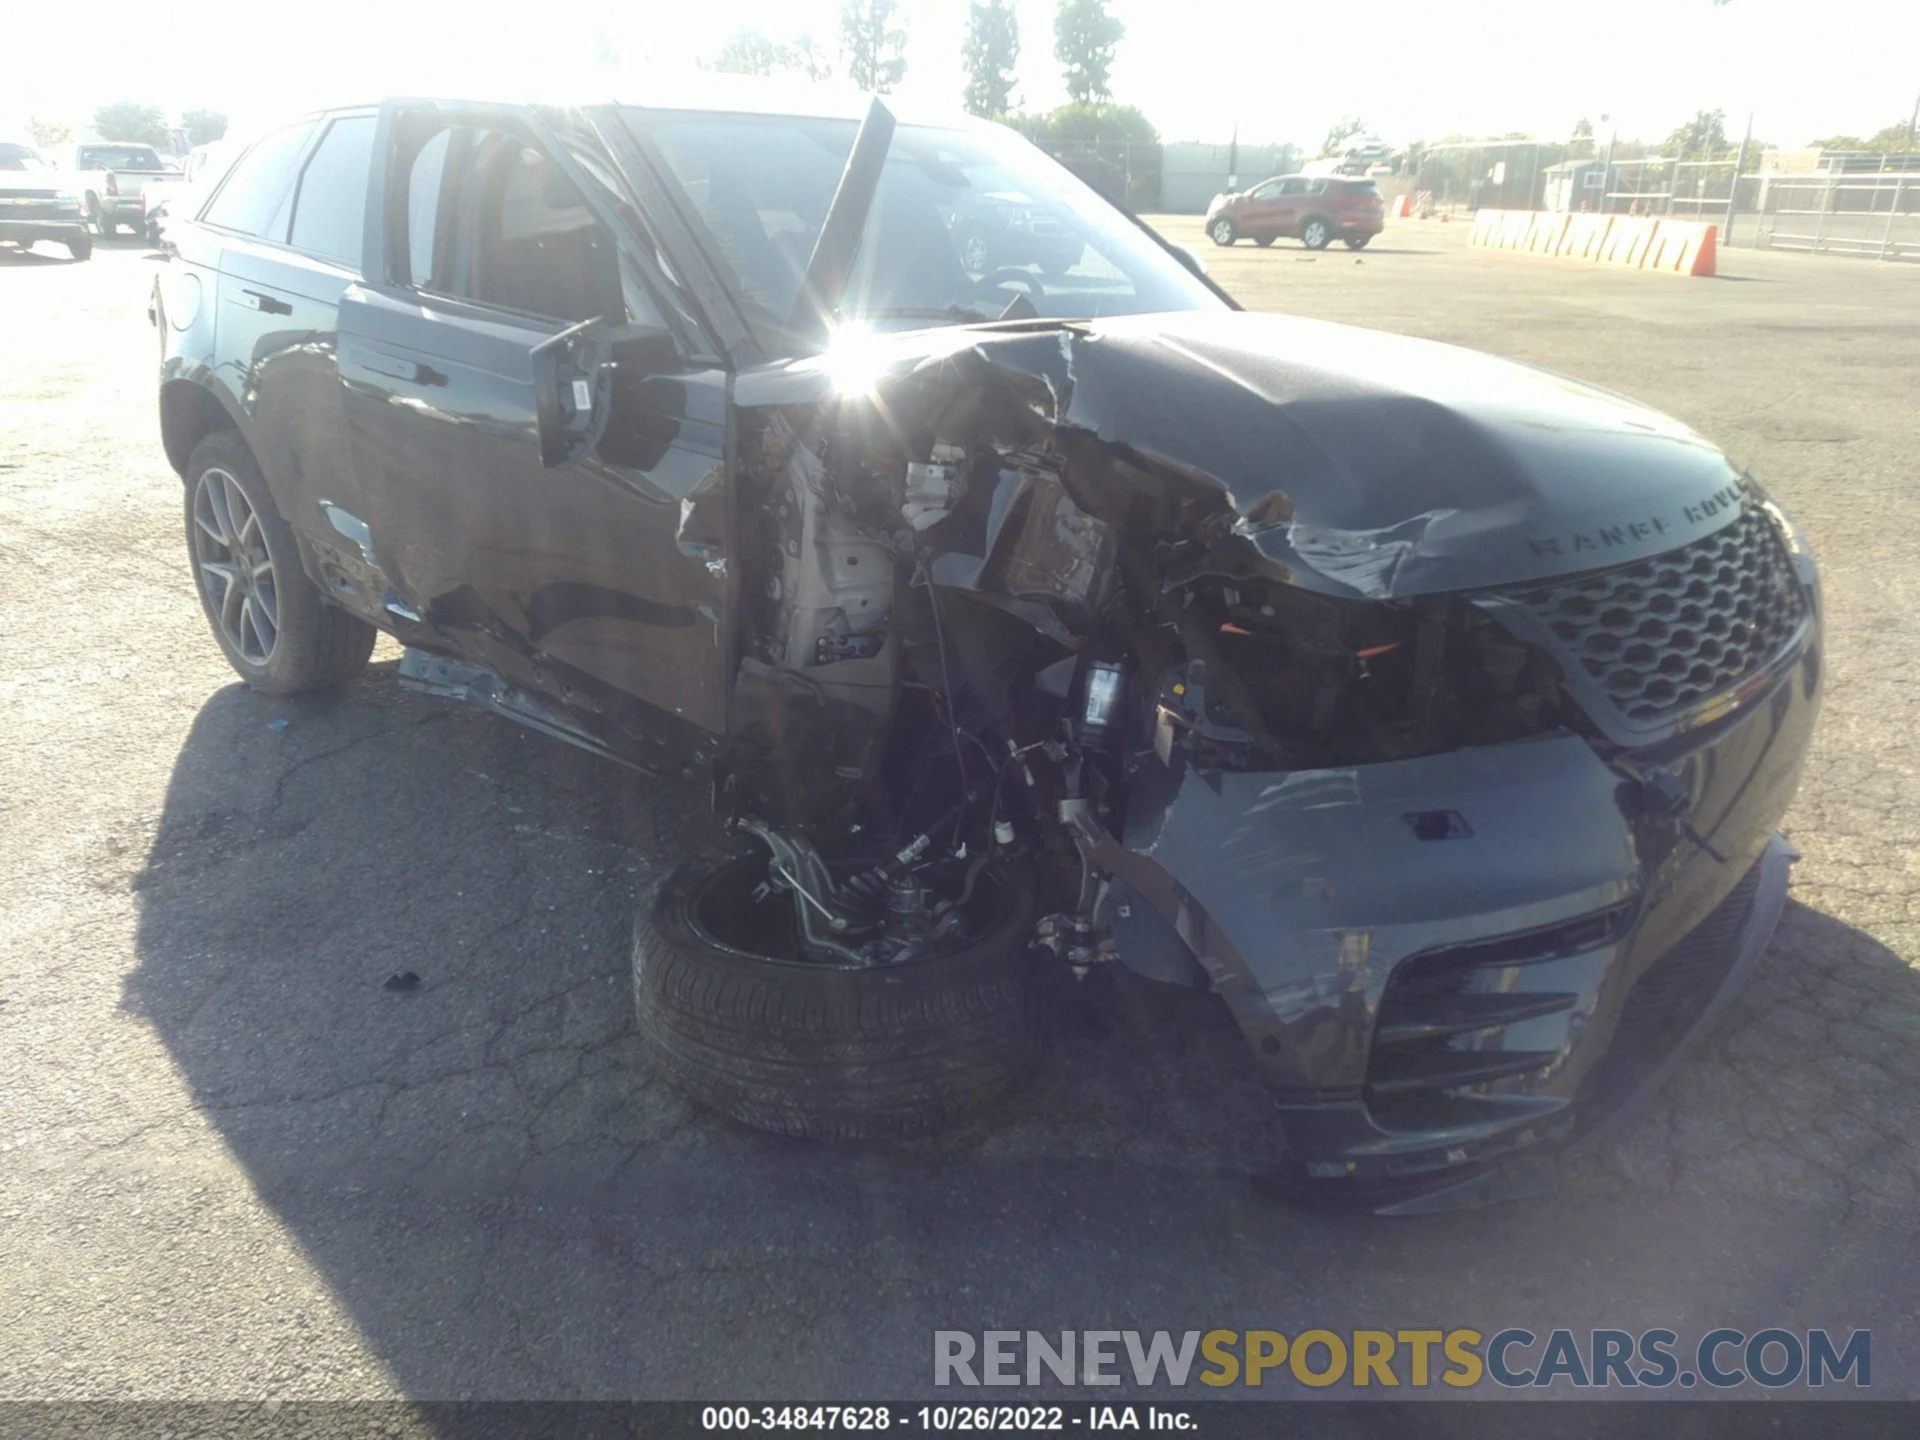
<path fill-rule="evenodd" d="M 845 119 L 630 109 L 749 319 L 793 309 L 858 129 Z M 925 326 L 1213 309 L 1219 298 L 1010 131 L 900 125 L 843 321 Z M 1027 309 L 1031 305 L 1031 311 Z"/>

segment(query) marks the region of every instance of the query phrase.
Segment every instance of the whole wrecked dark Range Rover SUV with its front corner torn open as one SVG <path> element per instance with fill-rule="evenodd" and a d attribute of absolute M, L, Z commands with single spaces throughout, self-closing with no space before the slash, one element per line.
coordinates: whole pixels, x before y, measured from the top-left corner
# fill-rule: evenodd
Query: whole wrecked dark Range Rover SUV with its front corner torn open
<path fill-rule="evenodd" d="M 324 309 L 286 267 L 346 123 L 336 311 L 198 305 Z M 244 157 L 156 300 L 209 620 L 265 689 L 378 626 L 407 684 L 710 778 L 730 843 L 634 943 L 707 1104 L 962 1116 L 1033 1064 L 1041 966 L 1127 966 L 1229 1006 L 1298 1194 L 1478 1204 L 1657 1087 L 1764 947 L 1818 589 L 1688 428 L 1240 313 L 987 125 L 305 125 L 227 205 L 259 228 L 223 225 Z M 968 269 L 979 194 L 1077 259 Z"/>

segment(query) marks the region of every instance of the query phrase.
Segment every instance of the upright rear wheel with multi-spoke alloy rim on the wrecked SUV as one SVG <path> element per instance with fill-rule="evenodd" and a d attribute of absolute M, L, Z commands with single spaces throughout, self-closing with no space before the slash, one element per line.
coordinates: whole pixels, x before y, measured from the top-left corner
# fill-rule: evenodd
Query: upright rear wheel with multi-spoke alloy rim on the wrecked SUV
<path fill-rule="evenodd" d="M 374 628 L 307 580 L 294 532 L 232 430 L 202 440 L 186 465 L 186 549 L 213 637 L 253 689 L 328 689 L 367 668 Z"/>

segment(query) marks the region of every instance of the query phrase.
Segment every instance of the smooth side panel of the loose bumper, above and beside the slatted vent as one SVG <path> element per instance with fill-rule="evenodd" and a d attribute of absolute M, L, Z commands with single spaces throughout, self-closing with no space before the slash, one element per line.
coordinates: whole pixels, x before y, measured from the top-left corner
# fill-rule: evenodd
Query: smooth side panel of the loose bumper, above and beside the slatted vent
<path fill-rule="evenodd" d="M 1578 735 L 1342 770 L 1142 772 L 1096 858 L 1192 945 L 1277 1083 L 1359 1085 L 1409 954 L 1638 893 L 1615 776 Z M 1473 831 L 1421 839 L 1413 816 Z"/>

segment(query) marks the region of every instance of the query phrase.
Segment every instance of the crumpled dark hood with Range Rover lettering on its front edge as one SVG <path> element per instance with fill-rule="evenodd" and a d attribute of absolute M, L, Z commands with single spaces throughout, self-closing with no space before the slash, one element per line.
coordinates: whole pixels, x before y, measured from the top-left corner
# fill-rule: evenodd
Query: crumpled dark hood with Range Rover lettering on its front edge
<path fill-rule="evenodd" d="M 1730 522 L 1740 472 L 1684 424 L 1430 340 L 1246 311 L 872 336 L 912 372 L 1044 382 L 1046 419 L 1223 488 L 1298 584 L 1373 599 L 1622 564 Z M 741 376 L 774 403 L 824 357 Z M 770 384 L 772 382 L 772 384 Z M 768 392 L 764 399 L 756 392 Z"/>

